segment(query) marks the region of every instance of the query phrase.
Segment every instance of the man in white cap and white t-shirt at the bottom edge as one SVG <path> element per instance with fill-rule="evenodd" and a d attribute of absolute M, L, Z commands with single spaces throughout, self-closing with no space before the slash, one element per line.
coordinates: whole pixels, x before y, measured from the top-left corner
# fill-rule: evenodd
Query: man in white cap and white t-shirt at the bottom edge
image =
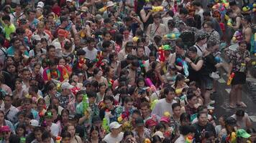
<path fill-rule="evenodd" d="M 118 122 L 111 122 L 109 124 L 110 133 L 106 134 L 103 141 L 106 143 L 121 142 L 124 137 L 124 132 L 121 132 L 122 124 Z"/>

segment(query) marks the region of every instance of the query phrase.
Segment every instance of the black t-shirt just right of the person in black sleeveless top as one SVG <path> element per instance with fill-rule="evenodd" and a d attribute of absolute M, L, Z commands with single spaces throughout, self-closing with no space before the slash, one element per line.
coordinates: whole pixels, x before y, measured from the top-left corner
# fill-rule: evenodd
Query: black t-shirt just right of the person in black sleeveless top
<path fill-rule="evenodd" d="M 209 76 L 211 72 L 216 71 L 215 65 L 217 64 L 217 62 L 215 61 L 213 54 L 208 54 L 203 59 L 204 59 L 204 66 L 202 67 L 201 73 L 203 75 Z"/>

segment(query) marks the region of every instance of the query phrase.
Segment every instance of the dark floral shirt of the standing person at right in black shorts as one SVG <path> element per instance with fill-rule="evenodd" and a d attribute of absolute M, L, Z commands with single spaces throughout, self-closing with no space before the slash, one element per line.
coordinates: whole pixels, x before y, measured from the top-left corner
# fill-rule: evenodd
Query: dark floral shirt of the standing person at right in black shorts
<path fill-rule="evenodd" d="M 246 64 L 245 58 L 250 58 L 250 51 L 246 50 L 243 53 L 240 50 L 229 51 L 227 55 L 229 57 L 229 62 L 233 64 L 232 71 L 246 71 L 246 68 L 243 70 L 242 64 Z"/>

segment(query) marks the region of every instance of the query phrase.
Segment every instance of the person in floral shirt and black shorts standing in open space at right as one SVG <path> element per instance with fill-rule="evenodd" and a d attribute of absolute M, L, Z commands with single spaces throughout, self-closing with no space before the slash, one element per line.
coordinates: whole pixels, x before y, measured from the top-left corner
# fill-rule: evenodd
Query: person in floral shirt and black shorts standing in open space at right
<path fill-rule="evenodd" d="M 246 82 L 247 65 L 250 62 L 250 52 L 247 50 L 246 41 L 239 42 L 238 49 L 230 53 L 229 60 L 228 75 L 234 73 L 229 94 L 229 107 L 235 108 L 236 105 L 237 107 L 247 107 L 242 102 L 242 85 Z"/>

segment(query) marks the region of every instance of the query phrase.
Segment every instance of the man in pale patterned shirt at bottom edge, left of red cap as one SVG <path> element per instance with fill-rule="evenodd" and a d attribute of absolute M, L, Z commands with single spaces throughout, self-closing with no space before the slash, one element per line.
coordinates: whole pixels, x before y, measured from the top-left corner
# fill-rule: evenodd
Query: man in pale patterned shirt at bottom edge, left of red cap
<path fill-rule="evenodd" d="M 150 130 L 145 128 L 142 117 L 135 120 L 135 125 L 135 129 L 132 130 L 132 133 L 137 142 L 144 142 L 145 139 L 150 139 Z"/>

